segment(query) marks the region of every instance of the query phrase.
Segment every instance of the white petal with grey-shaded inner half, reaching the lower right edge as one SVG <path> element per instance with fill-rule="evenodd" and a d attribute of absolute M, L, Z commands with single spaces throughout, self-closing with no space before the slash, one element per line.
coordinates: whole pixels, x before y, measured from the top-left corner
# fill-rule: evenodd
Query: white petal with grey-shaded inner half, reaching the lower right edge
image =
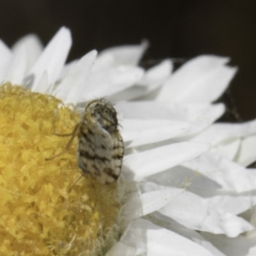
<path fill-rule="evenodd" d="M 252 171 L 254 172 L 254 171 Z M 158 186 L 184 188 L 205 198 L 212 207 L 221 208 L 226 212 L 240 214 L 256 205 L 256 195 L 253 191 L 236 194 L 234 192 L 218 192 L 221 187 L 198 172 L 191 172 L 183 166 L 175 166 L 166 172 L 160 172 L 146 178 L 147 183 Z M 152 190 L 152 186 L 150 188 Z M 154 188 L 153 188 L 154 189 Z"/>

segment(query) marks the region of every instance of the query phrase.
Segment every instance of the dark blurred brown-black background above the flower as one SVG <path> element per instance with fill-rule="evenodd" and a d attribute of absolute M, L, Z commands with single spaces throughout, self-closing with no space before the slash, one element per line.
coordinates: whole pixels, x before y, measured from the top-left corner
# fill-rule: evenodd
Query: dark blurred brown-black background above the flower
<path fill-rule="evenodd" d="M 61 26 L 69 27 L 69 61 L 143 38 L 150 42 L 144 62 L 230 56 L 239 72 L 221 99 L 229 108 L 224 120 L 256 118 L 255 0 L 2 0 L 0 7 L 0 38 L 8 45 L 31 32 L 47 44 Z"/>

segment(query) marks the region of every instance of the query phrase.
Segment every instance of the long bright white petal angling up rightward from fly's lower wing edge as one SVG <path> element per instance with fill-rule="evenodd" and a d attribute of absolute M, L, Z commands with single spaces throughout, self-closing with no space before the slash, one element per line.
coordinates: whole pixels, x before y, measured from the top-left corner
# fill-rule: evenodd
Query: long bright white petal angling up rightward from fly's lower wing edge
<path fill-rule="evenodd" d="M 172 168 L 183 161 L 194 159 L 208 150 L 207 144 L 175 143 L 160 148 L 150 149 L 137 154 L 125 156 L 125 166 L 137 181 L 166 169 Z"/>

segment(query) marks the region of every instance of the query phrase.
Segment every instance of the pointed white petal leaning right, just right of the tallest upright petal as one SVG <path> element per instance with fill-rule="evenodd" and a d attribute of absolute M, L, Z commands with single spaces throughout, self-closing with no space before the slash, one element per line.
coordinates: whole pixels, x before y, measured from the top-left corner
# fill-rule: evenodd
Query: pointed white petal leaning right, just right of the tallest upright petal
<path fill-rule="evenodd" d="M 61 81 L 54 94 L 61 98 L 63 102 L 76 104 L 79 102 L 81 94 L 86 87 L 90 77 L 91 67 L 96 59 L 96 50 L 84 55 L 71 69 L 67 77 Z"/>

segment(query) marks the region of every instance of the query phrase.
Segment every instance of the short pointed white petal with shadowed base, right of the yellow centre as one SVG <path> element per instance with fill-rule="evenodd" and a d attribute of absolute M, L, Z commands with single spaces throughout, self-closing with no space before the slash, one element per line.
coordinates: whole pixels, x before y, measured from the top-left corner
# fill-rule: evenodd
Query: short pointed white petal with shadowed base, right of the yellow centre
<path fill-rule="evenodd" d="M 180 193 L 182 189 L 163 189 L 150 191 L 148 193 L 131 193 L 128 195 L 122 215 L 126 221 L 133 218 L 139 218 L 148 213 L 155 212 L 172 200 L 172 198 Z"/>

